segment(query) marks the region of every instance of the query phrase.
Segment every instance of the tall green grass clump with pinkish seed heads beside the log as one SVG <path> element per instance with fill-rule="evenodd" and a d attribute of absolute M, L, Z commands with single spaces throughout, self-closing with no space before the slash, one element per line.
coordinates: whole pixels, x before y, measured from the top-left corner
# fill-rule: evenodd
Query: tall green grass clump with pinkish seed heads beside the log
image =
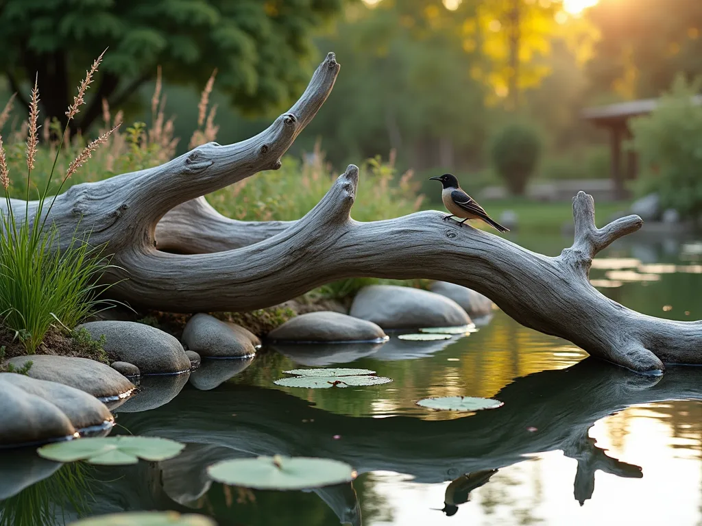
<path fill-rule="evenodd" d="M 108 267 L 104 247 L 91 246 L 89 233 L 81 234 L 78 229 L 72 238 L 60 239 L 58 229 L 51 222 L 51 209 L 69 177 L 107 142 L 117 127 L 90 142 L 69 164 L 55 194 L 48 196 L 56 161 L 67 142 L 68 123 L 84 104 L 86 90 L 101 61 L 102 55 L 86 73 L 66 112 L 67 122 L 53 166 L 48 175 L 40 177 L 42 188 L 33 184 L 39 143 L 39 89 L 35 81 L 27 121 L 25 203 L 10 198 L 11 178 L 0 137 L 0 184 L 5 191 L 5 208 L 0 208 L 0 338 L 9 340 L 2 343 L 21 342 L 30 354 L 37 351 L 50 330 L 69 334 L 93 311 L 98 293 L 105 290 L 105 286 L 98 285 L 98 279 Z M 9 109 L 0 115 L 8 112 Z M 37 201 L 31 203 L 30 189 L 37 191 Z"/>

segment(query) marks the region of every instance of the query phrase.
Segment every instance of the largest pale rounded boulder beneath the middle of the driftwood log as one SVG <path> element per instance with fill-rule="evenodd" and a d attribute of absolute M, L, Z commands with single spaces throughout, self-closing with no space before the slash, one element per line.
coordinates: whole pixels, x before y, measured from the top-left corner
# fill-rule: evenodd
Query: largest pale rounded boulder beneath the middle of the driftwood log
<path fill-rule="evenodd" d="M 362 288 L 353 300 L 350 314 L 377 323 L 383 329 L 454 327 L 471 323 L 470 316 L 453 299 L 397 285 Z"/>

